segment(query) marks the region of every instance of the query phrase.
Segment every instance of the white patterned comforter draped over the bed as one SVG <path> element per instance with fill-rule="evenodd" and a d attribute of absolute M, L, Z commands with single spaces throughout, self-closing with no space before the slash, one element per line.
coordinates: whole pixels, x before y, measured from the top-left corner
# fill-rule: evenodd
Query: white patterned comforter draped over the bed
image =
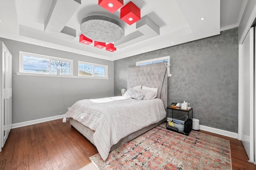
<path fill-rule="evenodd" d="M 122 96 L 80 100 L 64 115 L 64 119 L 73 118 L 95 131 L 94 145 L 103 160 L 120 139 L 164 117 L 162 100 L 135 100 Z"/>

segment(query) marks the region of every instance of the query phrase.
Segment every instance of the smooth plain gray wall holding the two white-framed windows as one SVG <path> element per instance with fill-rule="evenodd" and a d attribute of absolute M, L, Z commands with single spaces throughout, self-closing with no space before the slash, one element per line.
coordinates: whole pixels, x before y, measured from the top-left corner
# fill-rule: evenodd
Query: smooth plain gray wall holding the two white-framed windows
<path fill-rule="evenodd" d="M 0 38 L 12 54 L 12 123 L 66 113 L 76 101 L 114 95 L 114 62 Z M 78 61 L 108 65 L 108 80 L 17 76 L 19 51 L 72 59 L 74 75 Z M 62 113 L 62 114 L 63 114 Z"/>

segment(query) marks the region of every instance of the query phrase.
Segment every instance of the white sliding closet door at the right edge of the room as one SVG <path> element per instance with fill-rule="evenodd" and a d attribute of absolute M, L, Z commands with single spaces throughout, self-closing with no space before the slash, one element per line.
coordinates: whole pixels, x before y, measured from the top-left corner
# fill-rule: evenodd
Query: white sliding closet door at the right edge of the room
<path fill-rule="evenodd" d="M 249 161 L 254 162 L 254 28 L 250 28 L 239 55 L 239 111 L 241 140 Z"/>

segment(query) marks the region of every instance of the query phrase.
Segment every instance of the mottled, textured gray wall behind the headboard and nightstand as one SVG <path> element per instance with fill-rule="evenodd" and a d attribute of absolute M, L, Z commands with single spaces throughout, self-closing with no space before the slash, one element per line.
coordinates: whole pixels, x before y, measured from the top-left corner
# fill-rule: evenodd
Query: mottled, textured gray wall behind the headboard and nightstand
<path fill-rule="evenodd" d="M 114 61 L 114 94 L 127 88 L 127 68 L 170 55 L 168 105 L 190 103 L 200 125 L 238 132 L 238 28 L 221 35 Z"/>

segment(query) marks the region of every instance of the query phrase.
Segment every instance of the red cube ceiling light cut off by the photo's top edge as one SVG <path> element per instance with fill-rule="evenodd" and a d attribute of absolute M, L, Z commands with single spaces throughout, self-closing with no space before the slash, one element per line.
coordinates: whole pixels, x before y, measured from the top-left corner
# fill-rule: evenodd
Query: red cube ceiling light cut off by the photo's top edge
<path fill-rule="evenodd" d="M 124 0 L 99 0 L 99 6 L 112 14 L 124 5 Z"/>

